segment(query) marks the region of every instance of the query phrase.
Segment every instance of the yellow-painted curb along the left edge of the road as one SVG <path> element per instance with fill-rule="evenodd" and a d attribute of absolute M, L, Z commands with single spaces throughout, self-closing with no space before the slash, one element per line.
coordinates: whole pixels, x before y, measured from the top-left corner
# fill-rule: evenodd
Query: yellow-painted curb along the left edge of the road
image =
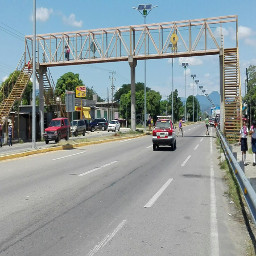
<path fill-rule="evenodd" d="M 4 161 L 4 160 L 26 157 L 26 156 L 31 156 L 31 155 L 41 154 L 41 153 L 48 153 L 48 152 L 59 151 L 59 150 L 71 150 L 71 149 L 89 146 L 89 145 L 102 144 L 102 143 L 119 141 L 119 140 L 124 140 L 124 139 L 135 139 L 135 138 L 140 138 L 143 136 L 146 136 L 146 134 L 141 134 L 141 135 L 136 135 L 136 136 L 131 136 L 131 137 L 110 138 L 110 139 L 98 140 L 98 141 L 87 141 L 87 142 L 81 142 L 81 143 L 77 143 L 77 144 L 65 144 L 65 145 L 56 146 L 56 147 L 52 147 L 52 148 L 35 149 L 35 150 L 31 150 L 31 151 L 26 151 L 26 152 L 0 156 L 0 162 Z"/>

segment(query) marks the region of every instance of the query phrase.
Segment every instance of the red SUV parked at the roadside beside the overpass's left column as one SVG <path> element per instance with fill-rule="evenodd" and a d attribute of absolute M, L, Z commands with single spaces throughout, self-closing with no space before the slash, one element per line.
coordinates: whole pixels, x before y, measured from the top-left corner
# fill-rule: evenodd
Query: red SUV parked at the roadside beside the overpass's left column
<path fill-rule="evenodd" d="M 68 140 L 69 138 L 69 121 L 67 118 L 60 117 L 51 120 L 49 127 L 45 129 L 44 140 L 48 144 L 50 140 L 54 140 L 56 143 L 61 139 Z"/>

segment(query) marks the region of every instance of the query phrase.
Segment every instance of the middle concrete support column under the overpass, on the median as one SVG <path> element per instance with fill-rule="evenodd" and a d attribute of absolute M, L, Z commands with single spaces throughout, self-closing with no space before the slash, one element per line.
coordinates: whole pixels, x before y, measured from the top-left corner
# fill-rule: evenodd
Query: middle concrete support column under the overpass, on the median
<path fill-rule="evenodd" d="M 136 130 L 136 108 L 135 108 L 135 67 L 137 60 L 133 56 L 128 57 L 128 62 L 131 67 L 131 130 Z"/>

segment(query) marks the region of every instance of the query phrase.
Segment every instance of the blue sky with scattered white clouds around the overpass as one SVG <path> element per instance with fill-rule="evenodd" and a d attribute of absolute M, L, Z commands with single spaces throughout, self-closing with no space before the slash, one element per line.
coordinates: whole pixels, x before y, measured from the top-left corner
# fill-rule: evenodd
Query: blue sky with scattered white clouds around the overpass
<path fill-rule="evenodd" d="M 245 87 L 245 69 L 256 65 L 256 1 L 255 0 L 36 0 L 37 34 L 71 32 L 97 28 L 109 28 L 144 23 L 143 16 L 132 7 L 139 4 L 156 6 L 147 16 L 147 23 L 172 22 L 180 20 L 238 15 L 239 61 L 242 95 Z M 0 0 L 0 82 L 16 69 L 24 52 L 25 35 L 33 34 L 33 0 Z M 225 43 L 231 42 L 232 30 L 226 28 Z M 188 62 L 186 71 L 186 95 L 193 94 L 191 74 L 196 75 L 199 85 L 208 94 L 220 91 L 219 56 L 175 58 L 173 85 L 179 96 L 185 96 L 184 69 L 182 62 Z M 66 72 L 78 73 L 87 87 L 93 88 L 101 98 L 110 95 L 112 71 L 115 90 L 130 83 L 130 67 L 127 62 L 51 67 L 55 83 Z M 147 87 L 160 92 L 166 99 L 172 90 L 172 69 L 170 59 L 147 60 Z M 138 61 L 136 82 L 144 82 L 144 61 Z M 194 94 L 201 94 L 194 87 Z"/>

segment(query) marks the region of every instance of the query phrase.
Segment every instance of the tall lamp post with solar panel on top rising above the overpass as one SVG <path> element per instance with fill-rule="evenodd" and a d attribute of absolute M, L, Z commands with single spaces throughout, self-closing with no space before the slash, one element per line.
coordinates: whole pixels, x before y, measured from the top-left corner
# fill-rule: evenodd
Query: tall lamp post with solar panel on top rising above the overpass
<path fill-rule="evenodd" d="M 139 4 L 138 7 L 132 7 L 133 9 L 139 11 L 142 16 L 144 17 L 144 24 L 146 24 L 146 18 L 148 14 L 154 9 L 158 7 L 157 5 L 152 6 L 152 4 Z M 146 51 L 147 51 L 147 41 L 146 41 L 146 30 L 145 30 L 145 56 L 146 56 Z M 146 98 L 146 85 L 147 85 L 147 64 L 146 64 L 146 59 L 144 60 L 144 128 L 146 129 L 146 119 L 147 119 L 147 98 Z"/>

